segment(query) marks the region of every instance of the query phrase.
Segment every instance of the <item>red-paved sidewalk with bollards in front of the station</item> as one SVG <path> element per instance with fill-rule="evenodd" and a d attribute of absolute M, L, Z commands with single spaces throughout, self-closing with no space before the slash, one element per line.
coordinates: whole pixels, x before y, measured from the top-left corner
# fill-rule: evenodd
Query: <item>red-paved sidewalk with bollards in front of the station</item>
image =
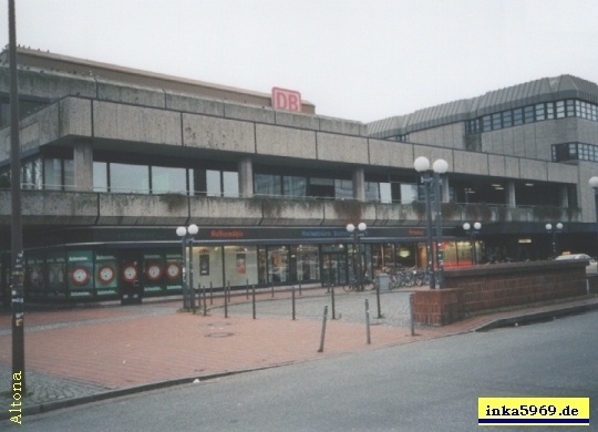
<path fill-rule="evenodd" d="M 598 308 L 598 298 L 502 311 L 445 327 L 415 326 L 411 335 L 409 291 L 336 290 L 334 308 L 324 289 L 296 291 L 296 319 L 290 292 L 207 300 L 208 312 L 179 312 L 176 301 L 137 306 L 95 305 L 34 310 L 25 315 L 25 379 L 22 414 L 29 415 L 218 376 L 329 358 L 431 338 L 480 331 Z M 249 297 L 249 298 L 248 298 Z M 370 341 L 365 326 L 369 305 Z M 328 307 L 322 352 L 323 310 Z M 227 317 L 225 317 L 225 313 Z M 334 319 L 332 319 L 334 318 Z M 11 315 L 0 313 L 0 420 L 13 401 Z"/>

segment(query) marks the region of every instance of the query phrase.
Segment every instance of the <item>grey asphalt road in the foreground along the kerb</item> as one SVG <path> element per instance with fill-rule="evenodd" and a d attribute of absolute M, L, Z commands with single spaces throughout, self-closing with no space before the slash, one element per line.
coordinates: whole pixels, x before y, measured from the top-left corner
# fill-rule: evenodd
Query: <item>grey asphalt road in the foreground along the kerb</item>
<path fill-rule="evenodd" d="M 527 395 L 589 397 L 584 430 L 598 430 L 597 342 L 598 312 L 588 312 L 141 393 L 0 429 L 478 431 L 478 397 Z"/>

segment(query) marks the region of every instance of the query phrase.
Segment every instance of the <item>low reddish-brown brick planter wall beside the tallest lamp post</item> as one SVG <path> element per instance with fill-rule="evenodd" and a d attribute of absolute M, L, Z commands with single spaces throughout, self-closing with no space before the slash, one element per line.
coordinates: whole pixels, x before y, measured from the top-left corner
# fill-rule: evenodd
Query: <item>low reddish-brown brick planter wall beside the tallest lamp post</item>
<path fill-rule="evenodd" d="M 415 322 L 445 326 L 488 309 L 587 294 L 585 261 L 534 261 L 446 269 L 444 289 L 415 291 Z"/>

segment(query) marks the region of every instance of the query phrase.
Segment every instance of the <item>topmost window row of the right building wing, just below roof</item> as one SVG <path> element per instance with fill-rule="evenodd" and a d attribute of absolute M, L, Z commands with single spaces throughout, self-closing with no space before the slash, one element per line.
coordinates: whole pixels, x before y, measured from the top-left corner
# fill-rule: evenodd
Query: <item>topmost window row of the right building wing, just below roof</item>
<path fill-rule="evenodd" d="M 598 105 L 573 99 L 537 103 L 470 120 L 465 127 L 467 133 L 474 134 L 565 117 L 598 122 Z"/>

